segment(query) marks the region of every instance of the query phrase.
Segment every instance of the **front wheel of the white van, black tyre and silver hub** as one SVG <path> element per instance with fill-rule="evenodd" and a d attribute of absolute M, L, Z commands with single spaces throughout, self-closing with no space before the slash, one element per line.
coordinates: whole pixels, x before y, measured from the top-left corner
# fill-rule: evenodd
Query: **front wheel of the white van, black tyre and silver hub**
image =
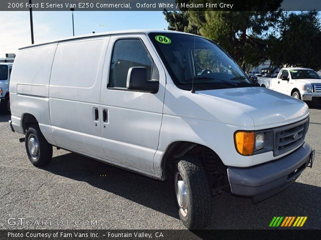
<path fill-rule="evenodd" d="M 189 229 L 201 229 L 209 224 L 212 197 L 202 163 L 193 156 L 181 157 L 174 171 L 174 186 L 179 215 Z"/>

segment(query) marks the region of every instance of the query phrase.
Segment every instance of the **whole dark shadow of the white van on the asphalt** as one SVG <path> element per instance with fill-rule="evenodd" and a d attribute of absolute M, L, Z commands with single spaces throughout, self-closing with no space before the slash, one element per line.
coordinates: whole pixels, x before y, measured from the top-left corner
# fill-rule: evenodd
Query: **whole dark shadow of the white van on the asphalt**
<path fill-rule="evenodd" d="M 45 168 L 54 174 L 85 181 L 172 217 L 179 218 L 172 182 L 153 180 L 74 153 L 53 158 Z M 100 177 L 100 174 L 106 174 Z M 213 197 L 211 229 L 268 228 L 273 216 L 307 216 L 303 228 L 320 228 L 321 187 L 294 182 L 257 204 L 250 198 L 223 193 Z"/>

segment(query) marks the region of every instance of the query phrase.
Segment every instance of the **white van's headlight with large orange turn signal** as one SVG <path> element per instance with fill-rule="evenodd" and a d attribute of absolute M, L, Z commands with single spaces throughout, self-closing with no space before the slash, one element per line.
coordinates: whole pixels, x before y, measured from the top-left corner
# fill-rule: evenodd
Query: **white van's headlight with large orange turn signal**
<path fill-rule="evenodd" d="M 255 131 L 236 131 L 234 133 L 235 148 L 238 153 L 250 156 L 273 150 L 273 133 L 270 130 L 256 133 Z"/>

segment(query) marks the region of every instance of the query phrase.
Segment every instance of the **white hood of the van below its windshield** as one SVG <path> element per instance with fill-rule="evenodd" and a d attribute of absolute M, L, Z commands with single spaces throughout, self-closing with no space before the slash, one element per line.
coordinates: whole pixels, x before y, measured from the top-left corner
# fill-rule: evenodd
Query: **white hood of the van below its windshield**
<path fill-rule="evenodd" d="M 303 101 L 265 87 L 201 90 L 196 93 L 243 109 L 252 116 L 255 127 L 287 124 L 306 117 L 309 112 Z"/>

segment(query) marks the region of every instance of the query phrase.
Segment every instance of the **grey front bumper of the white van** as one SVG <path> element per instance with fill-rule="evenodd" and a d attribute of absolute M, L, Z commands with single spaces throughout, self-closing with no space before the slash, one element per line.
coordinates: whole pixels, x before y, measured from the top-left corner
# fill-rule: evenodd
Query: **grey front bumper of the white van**
<path fill-rule="evenodd" d="M 314 150 L 303 143 L 295 151 L 277 160 L 253 167 L 228 167 L 233 194 L 253 197 L 259 202 L 288 187 L 307 167 L 312 167 Z"/>

